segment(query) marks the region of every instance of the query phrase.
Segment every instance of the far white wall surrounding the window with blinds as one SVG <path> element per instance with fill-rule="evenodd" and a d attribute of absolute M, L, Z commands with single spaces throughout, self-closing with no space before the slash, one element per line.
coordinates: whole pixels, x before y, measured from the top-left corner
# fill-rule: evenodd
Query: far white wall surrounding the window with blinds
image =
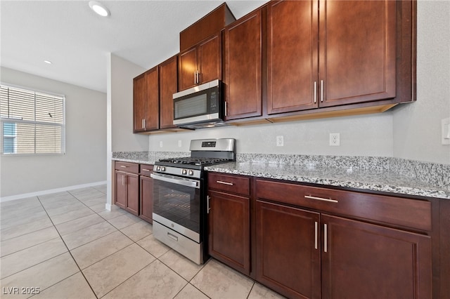
<path fill-rule="evenodd" d="M 65 95 L 66 154 L 1 157 L 0 197 L 106 180 L 105 93 L 5 67 L 1 81 Z"/>

